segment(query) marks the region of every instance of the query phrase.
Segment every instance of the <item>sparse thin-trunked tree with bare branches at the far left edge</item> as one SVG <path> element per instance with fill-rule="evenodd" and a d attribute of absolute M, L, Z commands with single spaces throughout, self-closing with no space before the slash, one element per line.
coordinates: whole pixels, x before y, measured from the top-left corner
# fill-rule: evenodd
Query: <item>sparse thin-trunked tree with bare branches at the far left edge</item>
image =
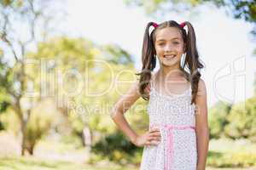
<path fill-rule="evenodd" d="M 52 4 L 42 0 L 0 2 L 0 45 L 3 49 L 3 58 L 7 60 L 1 88 L 9 96 L 10 106 L 20 120 L 22 155 L 27 149 L 26 125 L 31 118 L 33 107 L 40 101 L 38 97 L 26 96 L 33 82 L 26 71 L 26 53 L 35 47 L 38 41 L 47 37 L 46 31 L 49 29 L 50 20 L 53 19 L 50 16 L 53 9 L 50 7 L 54 7 Z M 24 99 L 26 105 L 22 104 Z"/>

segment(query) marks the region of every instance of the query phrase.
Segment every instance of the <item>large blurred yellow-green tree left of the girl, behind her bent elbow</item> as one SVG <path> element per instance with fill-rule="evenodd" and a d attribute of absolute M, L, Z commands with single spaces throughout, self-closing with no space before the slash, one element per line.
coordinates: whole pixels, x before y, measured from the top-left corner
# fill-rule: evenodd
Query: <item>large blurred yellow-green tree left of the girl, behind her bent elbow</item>
<path fill-rule="evenodd" d="M 33 84 L 41 82 L 42 98 L 49 96 L 55 100 L 68 122 L 65 126 L 81 137 L 85 147 L 90 149 L 95 132 L 113 132 L 108 109 L 119 94 L 111 84 L 121 71 L 119 78 L 134 78 L 131 54 L 118 45 L 100 46 L 80 37 L 53 37 L 39 42 L 37 51 L 27 54 L 27 58 L 44 62 L 44 70 L 38 71 L 38 67 L 34 67 L 29 71 Z M 58 75 L 58 78 L 45 78 L 42 82 L 42 78 L 37 79 L 42 75 Z M 130 84 L 119 87 L 119 90 L 127 85 Z M 101 94 L 102 91 L 107 93 Z"/>

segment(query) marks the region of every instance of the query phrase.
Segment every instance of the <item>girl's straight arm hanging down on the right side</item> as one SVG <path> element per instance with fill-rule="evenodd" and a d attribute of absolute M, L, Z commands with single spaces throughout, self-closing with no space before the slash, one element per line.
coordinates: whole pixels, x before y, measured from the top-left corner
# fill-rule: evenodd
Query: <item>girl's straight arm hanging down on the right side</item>
<path fill-rule="evenodd" d="M 205 82 L 198 82 L 198 93 L 195 98 L 195 133 L 197 141 L 197 170 L 205 170 L 209 143 L 209 127 L 207 121 L 207 88 Z"/>

